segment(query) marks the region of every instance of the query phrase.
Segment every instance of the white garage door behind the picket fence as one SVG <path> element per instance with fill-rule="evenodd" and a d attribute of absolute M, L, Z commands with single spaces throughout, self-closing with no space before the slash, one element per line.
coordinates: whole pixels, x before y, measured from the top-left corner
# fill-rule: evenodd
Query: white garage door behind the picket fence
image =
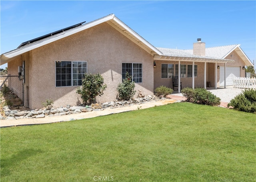
<path fill-rule="evenodd" d="M 240 77 L 240 67 L 226 67 L 226 86 L 233 85 L 234 77 Z M 220 86 L 224 86 L 224 67 L 220 67 Z"/>

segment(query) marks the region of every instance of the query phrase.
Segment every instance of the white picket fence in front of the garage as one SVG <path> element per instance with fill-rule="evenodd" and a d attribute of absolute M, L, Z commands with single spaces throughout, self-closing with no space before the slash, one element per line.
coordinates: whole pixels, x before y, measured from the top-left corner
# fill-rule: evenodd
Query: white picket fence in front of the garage
<path fill-rule="evenodd" d="M 235 77 L 233 78 L 233 88 L 255 88 L 256 78 Z"/>

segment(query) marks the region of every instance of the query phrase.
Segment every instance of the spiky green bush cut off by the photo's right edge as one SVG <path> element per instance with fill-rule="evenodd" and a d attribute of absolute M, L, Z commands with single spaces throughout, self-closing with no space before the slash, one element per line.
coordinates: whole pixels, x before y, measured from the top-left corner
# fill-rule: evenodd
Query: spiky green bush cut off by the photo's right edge
<path fill-rule="evenodd" d="M 230 100 L 228 107 L 234 107 L 239 111 L 256 113 L 256 90 L 246 89 L 234 99 Z"/>

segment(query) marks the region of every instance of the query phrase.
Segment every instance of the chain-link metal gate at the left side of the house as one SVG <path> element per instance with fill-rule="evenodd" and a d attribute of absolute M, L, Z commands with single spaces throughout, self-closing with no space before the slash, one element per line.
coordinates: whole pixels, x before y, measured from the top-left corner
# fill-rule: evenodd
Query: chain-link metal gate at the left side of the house
<path fill-rule="evenodd" d="M 0 76 L 1 89 L 6 85 L 24 104 L 24 84 L 19 76 Z"/>

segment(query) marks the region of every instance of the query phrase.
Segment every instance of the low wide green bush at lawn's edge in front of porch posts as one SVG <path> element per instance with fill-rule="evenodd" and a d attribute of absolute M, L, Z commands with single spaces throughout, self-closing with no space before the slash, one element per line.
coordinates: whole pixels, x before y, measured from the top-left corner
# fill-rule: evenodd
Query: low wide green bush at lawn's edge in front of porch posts
<path fill-rule="evenodd" d="M 218 106 L 220 105 L 220 98 L 216 97 L 210 91 L 204 88 L 184 88 L 181 90 L 182 95 L 186 97 L 188 102 L 193 102 L 196 104 L 203 104 L 208 106 Z"/>

